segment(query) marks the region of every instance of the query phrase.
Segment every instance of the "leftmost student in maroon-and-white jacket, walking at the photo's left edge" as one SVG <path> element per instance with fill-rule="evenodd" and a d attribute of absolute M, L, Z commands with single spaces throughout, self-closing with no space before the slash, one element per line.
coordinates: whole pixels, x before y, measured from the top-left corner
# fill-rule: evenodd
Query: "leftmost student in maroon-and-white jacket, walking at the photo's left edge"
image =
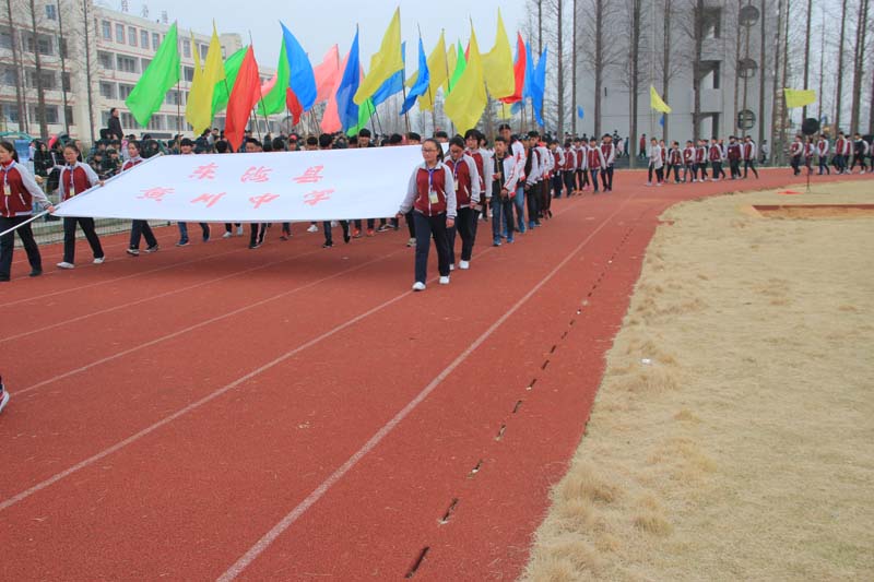
<path fill-rule="evenodd" d="M 27 222 L 33 215 L 34 199 L 46 206 L 49 212 L 55 212 L 55 206 L 46 198 L 27 168 L 19 164 L 17 157 L 12 142 L 0 141 L 0 174 L 3 175 L 3 192 L 0 193 L 0 231 L 19 227 L 19 238 L 24 246 L 24 252 L 27 253 L 27 262 L 31 263 L 31 276 L 38 277 L 43 274 L 43 258 L 39 254 L 39 247 L 34 240 L 31 223 L 19 225 Z M 2 283 L 11 278 L 14 250 L 15 233 L 3 235 L 0 238 L 0 282 Z M 2 383 L 0 383 L 0 397 L 9 397 L 3 394 Z M 4 404 L 0 401 L 0 408 Z"/>

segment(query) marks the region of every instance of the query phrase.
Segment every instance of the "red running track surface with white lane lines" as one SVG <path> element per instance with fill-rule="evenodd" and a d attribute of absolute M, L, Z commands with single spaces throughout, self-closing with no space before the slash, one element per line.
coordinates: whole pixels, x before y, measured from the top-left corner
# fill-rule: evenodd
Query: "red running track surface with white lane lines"
<path fill-rule="evenodd" d="M 82 266 L 38 280 L 19 252 L 0 579 L 516 578 L 658 216 L 789 177 L 639 179 L 555 201 L 511 246 L 486 228 L 471 271 L 423 294 L 405 233 L 249 251 L 162 229 L 157 254 L 119 235 L 93 266 L 82 242 Z"/>

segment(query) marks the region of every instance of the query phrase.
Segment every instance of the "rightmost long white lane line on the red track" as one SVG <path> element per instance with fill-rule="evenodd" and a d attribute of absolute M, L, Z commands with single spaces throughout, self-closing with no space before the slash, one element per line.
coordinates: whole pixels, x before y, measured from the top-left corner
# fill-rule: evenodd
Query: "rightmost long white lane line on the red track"
<path fill-rule="evenodd" d="M 343 476 L 354 467 L 367 453 L 376 448 L 379 442 L 385 439 L 416 406 L 418 406 L 440 383 L 456 370 L 468 357 L 480 347 L 495 331 L 500 328 L 516 311 L 518 311 L 531 297 L 534 296 L 546 283 L 548 283 L 560 270 L 564 268 L 579 251 L 588 245 L 592 238 L 606 226 L 631 200 L 631 197 L 625 199 L 622 205 L 609 217 L 606 217 L 592 233 L 580 242 L 570 253 L 559 262 L 540 283 L 534 285 L 519 301 L 516 302 L 508 311 L 500 316 L 489 328 L 483 332 L 472 344 L 470 344 L 452 363 L 444 368 L 444 370 L 426 385 L 406 406 L 404 406 L 394 417 L 386 423 L 376 435 L 364 443 L 355 454 L 350 456 L 336 471 L 334 471 L 321 485 L 319 485 L 311 494 L 307 496 L 300 503 L 297 504 L 287 515 L 285 515 L 276 525 L 274 525 L 261 539 L 259 539 L 252 547 L 249 548 L 225 573 L 218 578 L 218 582 L 231 582 L 237 578 L 258 556 L 260 556 L 270 545 L 282 535 L 300 515 L 303 515 L 310 507 L 312 507 L 319 499 L 324 496 L 328 490 L 333 487 Z M 2 508 L 0 508 L 2 509 Z"/>

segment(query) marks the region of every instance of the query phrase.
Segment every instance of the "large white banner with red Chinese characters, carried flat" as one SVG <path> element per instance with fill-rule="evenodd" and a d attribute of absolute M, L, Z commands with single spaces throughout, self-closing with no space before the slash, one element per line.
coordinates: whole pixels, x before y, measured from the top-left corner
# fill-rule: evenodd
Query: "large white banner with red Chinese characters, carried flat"
<path fill-rule="evenodd" d="M 418 145 L 151 158 L 63 204 L 57 216 L 265 223 L 394 216 Z"/>

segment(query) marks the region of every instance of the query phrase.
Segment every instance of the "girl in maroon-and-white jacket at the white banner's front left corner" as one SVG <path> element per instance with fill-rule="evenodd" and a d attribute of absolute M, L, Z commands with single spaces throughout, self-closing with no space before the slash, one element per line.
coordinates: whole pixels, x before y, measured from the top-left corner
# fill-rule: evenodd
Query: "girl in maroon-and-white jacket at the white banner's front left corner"
<path fill-rule="evenodd" d="M 61 171 L 60 187 L 62 200 L 70 200 L 72 197 L 84 192 L 94 186 L 103 186 L 103 180 L 97 174 L 81 162 L 79 147 L 72 143 L 63 147 L 63 159 L 67 165 Z M 66 216 L 63 218 L 63 261 L 58 263 L 59 269 L 73 269 L 75 266 L 75 226 L 82 227 L 85 238 L 91 245 L 94 253 L 94 264 L 101 264 L 105 260 L 101 239 L 94 230 L 94 218 Z"/>

